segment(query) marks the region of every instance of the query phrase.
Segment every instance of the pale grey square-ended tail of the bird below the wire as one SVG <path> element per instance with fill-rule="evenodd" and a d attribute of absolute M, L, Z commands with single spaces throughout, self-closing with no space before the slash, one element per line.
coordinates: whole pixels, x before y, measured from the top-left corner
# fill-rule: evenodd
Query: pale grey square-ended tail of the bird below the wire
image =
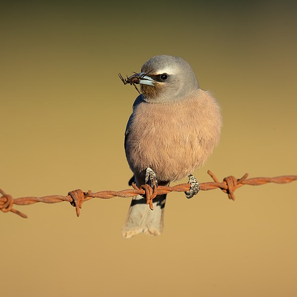
<path fill-rule="evenodd" d="M 153 210 L 150 210 L 147 199 L 140 195 L 133 197 L 122 235 L 130 238 L 138 233 L 160 235 L 163 231 L 164 207 L 166 194 L 156 196 L 152 201 Z"/>

